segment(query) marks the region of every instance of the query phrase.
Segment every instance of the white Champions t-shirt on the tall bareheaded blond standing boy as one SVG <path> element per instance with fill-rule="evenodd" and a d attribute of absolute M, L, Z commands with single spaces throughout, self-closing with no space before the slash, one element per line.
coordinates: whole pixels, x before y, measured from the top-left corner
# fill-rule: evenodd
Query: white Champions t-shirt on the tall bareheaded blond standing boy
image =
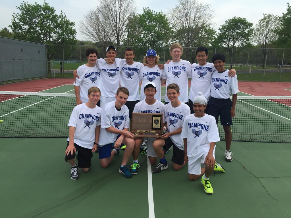
<path fill-rule="evenodd" d="M 188 77 L 191 74 L 191 64 L 187 60 L 180 60 L 179 62 L 171 61 L 164 65 L 163 79 L 167 79 L 166 87 L 171 83 L 176 83 L 180 87 L 179 101 L 188 102 Z M 167 95 L 165 101 L 170 102 Z"/>

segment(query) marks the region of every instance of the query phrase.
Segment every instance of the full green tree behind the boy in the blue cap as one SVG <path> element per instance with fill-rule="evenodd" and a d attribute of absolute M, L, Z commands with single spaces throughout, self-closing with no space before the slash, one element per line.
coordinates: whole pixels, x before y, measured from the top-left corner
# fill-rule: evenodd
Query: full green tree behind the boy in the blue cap
<path fill-rule="evenodd" d="M 125 42 L 139 47 L 164 47 L 173 33 L 166 15 L 150 8 L 143 8 L 142 14 L 130 17 L 126 29 Z"/>

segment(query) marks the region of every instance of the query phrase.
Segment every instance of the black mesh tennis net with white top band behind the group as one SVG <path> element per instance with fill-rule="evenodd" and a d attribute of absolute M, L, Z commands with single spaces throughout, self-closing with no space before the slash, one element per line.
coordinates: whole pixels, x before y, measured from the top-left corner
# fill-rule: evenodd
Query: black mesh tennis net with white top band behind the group
<path fill-rule="evenodd" d="M 0 91 L 0 137 L 68 137 L 75 104 L 74 94 Z M 238 97 L 233 141 L 290 142 L 290 109 L 290 96 Z"/>

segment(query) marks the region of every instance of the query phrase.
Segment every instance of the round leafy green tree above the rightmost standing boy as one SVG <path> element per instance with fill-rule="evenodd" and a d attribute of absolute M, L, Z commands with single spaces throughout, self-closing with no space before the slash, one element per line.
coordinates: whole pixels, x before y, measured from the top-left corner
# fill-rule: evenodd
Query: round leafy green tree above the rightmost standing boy
<path fill-rule="evenodd" d="M 226 20 L 219 28 L 217 42 L 228 48 L 230 56 L 230 67 L 233 63 L 233 52 L 236 47 L 244 47 L 251 40 L 253 33 L 253 23 L 248 22 L 245 18 L 234 17 Z"/>

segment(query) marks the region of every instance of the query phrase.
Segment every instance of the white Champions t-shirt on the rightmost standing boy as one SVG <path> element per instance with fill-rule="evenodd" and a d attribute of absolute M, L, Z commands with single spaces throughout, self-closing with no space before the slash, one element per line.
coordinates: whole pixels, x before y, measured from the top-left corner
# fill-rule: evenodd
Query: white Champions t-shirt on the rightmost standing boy
<path fill-rule="evenodd" d="M 214 71 L 211 77 L 211 97 L 228 99 L 232 94 L 238 93 L 237 75 L 228 76 L 228 70 L 219 73 Z"/>

